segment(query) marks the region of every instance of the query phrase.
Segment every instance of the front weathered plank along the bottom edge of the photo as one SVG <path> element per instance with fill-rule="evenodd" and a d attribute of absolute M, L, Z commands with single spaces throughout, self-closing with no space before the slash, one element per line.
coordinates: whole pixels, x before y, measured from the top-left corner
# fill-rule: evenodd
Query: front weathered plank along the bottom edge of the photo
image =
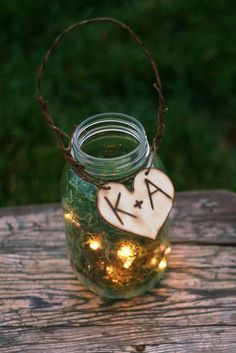
<path fill-rule="evenodd" d="M 122 325 L 88 328 L 18 328 L 0 332 L 1 353 L 235 353 L 236 327 Z M 13 349 L 12 349 L 13 347 Z"/>

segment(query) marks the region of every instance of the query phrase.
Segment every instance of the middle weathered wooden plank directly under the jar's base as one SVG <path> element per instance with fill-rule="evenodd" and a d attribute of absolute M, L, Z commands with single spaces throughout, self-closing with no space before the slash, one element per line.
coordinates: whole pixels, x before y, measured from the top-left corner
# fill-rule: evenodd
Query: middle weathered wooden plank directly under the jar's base
<path fill-rule="evenodd" d="M 137 323 L 235 323 L 236 247 L 174 245 L 161 286 L 130 301 L 104 301 L 86 291 L 68 259 L 53 256 L 46 238 L 36 248 L 1 256 L 0 326 L 118 324 L 124 310 Z"/>

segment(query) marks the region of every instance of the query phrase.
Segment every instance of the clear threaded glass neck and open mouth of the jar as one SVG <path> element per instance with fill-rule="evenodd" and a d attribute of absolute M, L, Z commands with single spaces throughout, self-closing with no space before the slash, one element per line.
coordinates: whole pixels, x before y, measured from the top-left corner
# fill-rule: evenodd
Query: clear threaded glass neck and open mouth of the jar
<path fill-rule="evenodd" d="M 138 120 L 125 114 L 105 113 L 77 126 L 71 152 L 94 179 L 108 181 L 137 173 L 148 161 L 150 146 Z"/>

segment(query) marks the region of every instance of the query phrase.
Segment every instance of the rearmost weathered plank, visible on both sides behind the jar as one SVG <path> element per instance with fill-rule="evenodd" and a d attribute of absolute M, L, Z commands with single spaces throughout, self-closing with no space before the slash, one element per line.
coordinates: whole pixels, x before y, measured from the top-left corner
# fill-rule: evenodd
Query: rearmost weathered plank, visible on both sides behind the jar
<path fill-rule="evenodd" d="M 199 244 L 236 244 L 236 194 L 228 191 L 177 193 L 171 214 L 171 240 Z M 62 241 L 59 205 L 28 206 L 0 210 L 0 237 L 20 232 L 27 239 L 42 232 Z M 58 234 L 58 232 L 60 234 Z M 37 235 L 38 235 L 37 234 Z M 54 243 L 57 246 L 57 244 Z M 5 244 L 7 246 L 7 244 Z M 3 251 L 3 249 L 0 249 Z"/>

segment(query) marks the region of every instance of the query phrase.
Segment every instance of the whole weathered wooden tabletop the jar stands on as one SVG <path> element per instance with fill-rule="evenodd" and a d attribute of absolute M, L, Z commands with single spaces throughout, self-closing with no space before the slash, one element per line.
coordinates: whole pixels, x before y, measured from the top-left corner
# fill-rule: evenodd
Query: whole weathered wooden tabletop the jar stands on
<path fill-rule="evenodd" d="M 0 352 L 236 352 L 236 195 L 177 194 L 161 285 L 103 300 L 75 279 L 59 205 L 0 210 Z"/>

